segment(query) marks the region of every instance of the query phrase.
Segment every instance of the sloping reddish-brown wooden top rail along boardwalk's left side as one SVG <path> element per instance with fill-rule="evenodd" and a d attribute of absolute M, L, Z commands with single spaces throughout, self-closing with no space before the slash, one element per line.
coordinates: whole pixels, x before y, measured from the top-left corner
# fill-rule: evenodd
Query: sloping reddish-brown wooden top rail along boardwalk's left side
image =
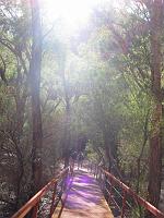
<path fill-rule="evenodd" d="M 52 185 L 56 185 L 60 179 L 62 179 L 69 172 L 69 167 L 66 168 L 60 174 L 58 174 L 55 179 L 52 179 L 48 184 L 46 184 L 39 192 L 37 192 L 21 209 L 15 213 L 11 218 L 23 218 L 27 213 L 38 206 L 37 204 Z"/>

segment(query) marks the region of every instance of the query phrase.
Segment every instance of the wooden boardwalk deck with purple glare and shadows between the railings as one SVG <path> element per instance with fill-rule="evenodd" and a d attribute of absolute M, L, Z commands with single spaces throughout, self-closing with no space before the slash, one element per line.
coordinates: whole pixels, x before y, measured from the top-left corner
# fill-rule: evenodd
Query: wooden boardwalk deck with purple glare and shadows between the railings
<path fill-rule="evenodd" d="M 114 218 L 97 181 L 86 170 L 75 170 L 68 183 L 61 218 Z M 56 211 L 52 218 L 57 217 Z"/>

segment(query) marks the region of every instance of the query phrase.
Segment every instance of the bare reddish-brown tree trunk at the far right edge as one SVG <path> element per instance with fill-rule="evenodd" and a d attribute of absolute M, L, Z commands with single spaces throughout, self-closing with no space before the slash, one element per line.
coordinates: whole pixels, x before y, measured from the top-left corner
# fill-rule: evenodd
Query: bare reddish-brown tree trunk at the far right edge
<path fill-rule="evenodd" d="M 161 63 L 162 63 L 162 23 L 163 1 L 154 0 L 150 8 L 150 37 L 151 37 L 151 77 L 154 109 L 152 112 L 150 137 L 150 162 L 148 199 L 157 207 L 161 193 L 162 172 L 162 89 L 161 89 Z M 154 217 L 147 215 L 147 217 Z"/>

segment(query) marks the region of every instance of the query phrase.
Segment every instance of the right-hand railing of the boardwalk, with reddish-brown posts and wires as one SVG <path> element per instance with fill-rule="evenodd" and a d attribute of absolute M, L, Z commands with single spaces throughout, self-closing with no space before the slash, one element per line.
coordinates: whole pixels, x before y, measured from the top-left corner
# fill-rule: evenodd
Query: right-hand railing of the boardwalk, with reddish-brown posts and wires
<path fill-rule="evenodd" d="M 149 211 L 156 218 L 164 218 L 164 214 L 162 211 L 140 197 L 129 186 L 102 167 L 98 167 L 97 165 L 90 165 L 89 169 L 99 181 L 108 204 L 113 204 L 115 208 L 119 210 L 121 218 L 143 218 L 145 211 Z"/>

